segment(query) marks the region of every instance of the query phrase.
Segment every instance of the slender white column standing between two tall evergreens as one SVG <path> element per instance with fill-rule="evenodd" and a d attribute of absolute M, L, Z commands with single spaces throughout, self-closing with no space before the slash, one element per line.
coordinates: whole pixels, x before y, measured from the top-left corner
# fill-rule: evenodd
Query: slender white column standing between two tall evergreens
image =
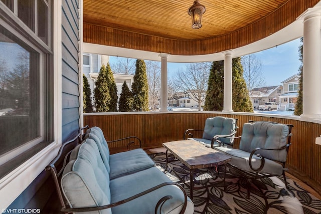
<path fill-rule="evenodd" d="M 224 55 L 224 103 L 222 112 L 232 110 L 232 53 L 233 50 L 222 52 Z"/>

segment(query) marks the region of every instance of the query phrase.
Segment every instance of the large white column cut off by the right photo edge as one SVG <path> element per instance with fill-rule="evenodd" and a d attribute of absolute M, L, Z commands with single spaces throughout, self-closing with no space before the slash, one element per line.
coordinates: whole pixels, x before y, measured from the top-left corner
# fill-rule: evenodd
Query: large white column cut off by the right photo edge
<path fill-rule="evenodd" d="M 301 118 L 321 119 L 321 9 L 310 8 L 303 21 L 303 102 Z"/>

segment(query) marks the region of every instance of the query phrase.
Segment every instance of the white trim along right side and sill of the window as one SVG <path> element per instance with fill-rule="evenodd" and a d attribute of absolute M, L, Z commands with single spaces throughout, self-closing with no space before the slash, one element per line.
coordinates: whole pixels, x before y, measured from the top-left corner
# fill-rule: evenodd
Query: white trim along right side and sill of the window
<path fill-rule="evenodd" d="M 82 3 L 82 1 L 80 1 Z M 3 4 L 0 2 L 0 4 Z M 7 208 L 55 158 L 61 146 L 62 138 L 62 2 L 53 1 L 53 52 L 54 59 L 54 142 L 22 163 L 0 179 L 1 208 Z M 82 9 L 82 5 L 81 5 Z M 82 13 L 81 13 L 82 14 Z M 49 17 L 51 19 L 51 17 Z M 80 29 L 81 31 L 82 29 Z M 58 101 L 58 102 L 57 102 Z"/>

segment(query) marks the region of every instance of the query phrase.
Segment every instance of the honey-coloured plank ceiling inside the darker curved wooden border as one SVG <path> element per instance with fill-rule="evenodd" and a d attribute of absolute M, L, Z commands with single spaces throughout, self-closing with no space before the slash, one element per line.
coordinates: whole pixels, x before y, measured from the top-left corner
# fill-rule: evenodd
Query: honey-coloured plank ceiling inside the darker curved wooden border
<path fill-rule="evenodd" d="M 130 32 L 190 40 L 211 38 L 240 29 L 271 12 L 288 0 L 201 0 L 206 7 L 202 28 L 191 28 L 186 0 L 85 0 L 84 21 Z"/>

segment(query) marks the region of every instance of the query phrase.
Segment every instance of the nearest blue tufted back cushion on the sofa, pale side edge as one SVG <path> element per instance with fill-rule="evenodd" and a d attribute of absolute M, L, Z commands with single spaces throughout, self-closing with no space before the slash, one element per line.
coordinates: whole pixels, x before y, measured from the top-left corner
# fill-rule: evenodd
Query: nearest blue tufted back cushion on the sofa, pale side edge
<path fill-rule="evenodd" d="M 109 175 L 93 140 L 86 139 L 72 151 L 61 178 L 61 188 L 72 208 L 110 204 Z M 109 214 L 111 210 L 99 213 Z"/>

